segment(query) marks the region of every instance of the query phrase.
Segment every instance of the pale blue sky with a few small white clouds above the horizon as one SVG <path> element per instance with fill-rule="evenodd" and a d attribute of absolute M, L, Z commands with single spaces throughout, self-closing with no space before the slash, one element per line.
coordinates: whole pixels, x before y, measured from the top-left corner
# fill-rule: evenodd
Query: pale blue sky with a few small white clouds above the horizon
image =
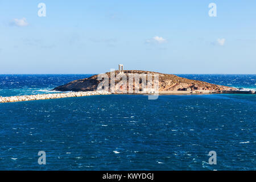
<path fill-rule="evenodd" d="M 209 16 L 210 3 L 217 16 Z M 255 74 L 255 7 L 255 0 L 0 0 L 0 74 L 93 74 L 118 64 Z"/>

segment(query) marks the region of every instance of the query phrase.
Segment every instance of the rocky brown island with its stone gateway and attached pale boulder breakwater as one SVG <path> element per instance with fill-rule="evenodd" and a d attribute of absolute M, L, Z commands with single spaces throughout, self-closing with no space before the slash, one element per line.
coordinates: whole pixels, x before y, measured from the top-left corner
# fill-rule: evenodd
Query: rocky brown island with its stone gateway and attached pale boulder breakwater
<path fill-rule="evenodd" d="M 71 81 L 65 85 L 57 86 L 56 91 L 66 93 L 53 93 L 53 94 L 38 94 L 30 96 L 11 96 L 0 97 L 2 102 L 19 102 L 19 101 L 32 101 L 32 100 L 48 100 L 55 98 L 66 97 L 84 97 L 96 95 L 119 94 L 119 89 L 126 90 L 125 94 L 209 94 L 209 93 L 242 93 L 254 94 L 253 90 L 241 91 L 240 89 L 210 84 L 205 81 L 189 80 L 187 78 L 179 77 L 176 75 L 150 72 L 150 71 L 137 71 L 137 70 L 123 70 L 107 72 L 104 74 L 93 75 L 89 78 Z M 104 77 L 102 77 L 102 75 Z M 132 79 L 131 75 L 133 75 Z M 135 75 L 135 77 L 134 77 Z M 157 76 L 156 76 L 157 75 Z M 136 78 L 136 76 L 138 76 Z M 156 77 L 155 77 L 156 76 Z M 110 79 L 109 79 L 110 78 Z M 154 78 L 154 79 L 151 79 Z M 114 81 L 113 81 L 114 80 Z M 132 81 L 131 81 L 132 80 Z M 154 80 L 154 81 L 153 81 Z M 157 81 L 156 81 L 157 80 Z M 121 84 L 125 83 L 125 85 Z M 104 83 L 104 84 L 102 84 Z M 150 86 L 154 87 L 153 91 Z M 102 86 L 103 85 L 103 86 Z M 111 85 L 114 85 L 114 91 Z M 125 88 L 126 86 L 126 88 Z M 99 89 L 101 88 L 101 89 Z M 138 92 L 133 92 L 137 90 Z M 157 92 L 156 92 L 157 90 Z M 69 92 L 67 92 L 69 91 Z"/>

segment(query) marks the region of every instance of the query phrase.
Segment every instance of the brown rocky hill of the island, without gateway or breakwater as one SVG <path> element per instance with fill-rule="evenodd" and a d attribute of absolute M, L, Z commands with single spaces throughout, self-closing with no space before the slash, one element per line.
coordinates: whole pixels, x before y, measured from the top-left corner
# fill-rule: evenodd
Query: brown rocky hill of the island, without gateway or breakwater
<path fill-rule="evenodd" d="M 94 91 L 97 90 L 99 85 L 102 85 L 102 82 L 106 82 L 106 85 L 103 84 L 104 86 L 108 87 L 107 89 L 109 92 L 112 93 L 117 93 L 113 92 L 110 90 L 111 88 L 111 72 L 104 73 L 106 76 L 105 78 L 102 79 L 101 75 L 93 75 L 89 78 L 84 78 L 80 80 L 74 80 L 71 81 L 65 85 L 60 85 L 57 86 L 53 90 L 57 91 L 73 91 L 73 92 L 80 92 L 80 91 Z M 129 77 L 130 75 L 138 75 L 138 77 L 141 76 L 141 81 L 131 81 L 129 82 Z M 151 80 L 148 80 L 148 75 L 154 76 L 158 75 L 158 88 L 155 88 L 152 84 L 152 88 L 155 88 L 156 90 L 159 90 L 159 92 L 179 92 L 180 91 L 188 91 L 188 92 L 222 92 L 224 90 L 229 90 L 229 91 L 237 91 L 237 88 L 232 88 L 230 86 L 224 86 L 224 85 L 216 85 L 216 84 L 210 84 L 205 81 L 200 81 L 200 80 L 189 80 L 187 78 L 179 77 L 176 75 L 170 75 L 170 74 L 164 74 L 164 73 L 158 73 L 158 72 L 150 72 L 150 71 L 138 71 L 138 70 L 124 70 L 123 72 L 119 71 L 114 71 L 113 72 L 113 83 L 115 85 L 119 84 L 120 77 L 125 78 L 126 77 L 126 88 L 115 88 L 115 90 L 127 90 L 129 91 L 129 88 L 131 90 L 135 90 L 135 88 L 139 88 L 139 90 L 143 91 L 144 86 L 142 84 L 142 80 L 145 80 L 146 83 L 148 83 Z M 144 79 L 142 77 L 144 76 Z M 100 78 L 100 79 L 99 79 Z M 155 79 L 155 78 L 154 78 Z M 131 79 L 133 80 L 133 79 Z M 152 81 L 154 82 L 154 81 Z"/>

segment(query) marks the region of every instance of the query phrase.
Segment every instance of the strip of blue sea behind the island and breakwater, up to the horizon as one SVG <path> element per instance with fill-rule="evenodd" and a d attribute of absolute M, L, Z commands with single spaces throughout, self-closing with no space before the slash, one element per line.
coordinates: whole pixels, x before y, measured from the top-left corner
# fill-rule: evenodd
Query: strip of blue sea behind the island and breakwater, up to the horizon
<path fill-rule="evenodd" d="M 56 93 L 51 89 L 92 75 L 0 75 L 0 96 Z M 256 75 L 178 75 L 212 84 L 256 90 Z"/>

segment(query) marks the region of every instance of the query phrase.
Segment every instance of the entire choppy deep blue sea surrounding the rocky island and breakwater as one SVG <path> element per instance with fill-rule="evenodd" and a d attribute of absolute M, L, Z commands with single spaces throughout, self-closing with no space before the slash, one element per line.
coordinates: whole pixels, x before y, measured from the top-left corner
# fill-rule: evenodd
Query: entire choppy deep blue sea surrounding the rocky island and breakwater
<path fill-rule="evenodd" d="M 0 75 L 0 96 L 91 75 Z M 178 75 L 256 88 L 256 75 Z M 0 104 L 0 170 L 256 170 L 256 94 L 110 95 Z M 38 152 L 46 152 L 46 165 Z M 208 155 L 216 151 L 217 164 Z"/>

